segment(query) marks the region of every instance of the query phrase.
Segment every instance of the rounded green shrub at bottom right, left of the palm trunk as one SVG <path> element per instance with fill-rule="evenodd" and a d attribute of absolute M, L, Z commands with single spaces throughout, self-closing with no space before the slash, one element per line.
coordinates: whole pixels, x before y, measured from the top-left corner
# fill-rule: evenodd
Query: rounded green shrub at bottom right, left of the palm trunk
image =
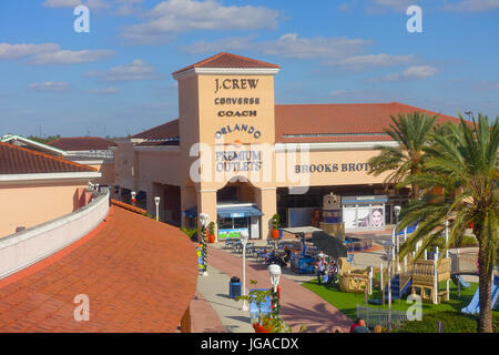
<path fill-rule="evenodd" d="M 460 312 L 437 312 L 422 315 L 422 321 L 406 322 L 394 333 L 437 333 L 438 322 L 444 322 L 445 333 L 477 333 L 477 318 Z"/>

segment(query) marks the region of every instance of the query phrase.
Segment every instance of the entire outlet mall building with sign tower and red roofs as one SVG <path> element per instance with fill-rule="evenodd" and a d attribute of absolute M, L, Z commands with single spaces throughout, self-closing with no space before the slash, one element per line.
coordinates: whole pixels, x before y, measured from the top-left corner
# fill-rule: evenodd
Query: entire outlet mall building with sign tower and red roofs
<path fill-rule="evenodd" d="M 114 194 L 134 192 L 152 215 L 160 196 L 160 219 L 177 225 L 206 213 L 221 240 L 241 230 L 265 239 L 275 213 L 283 226 L 310 225 L 330 192 L 342 196 L 346 231 L 391 224 L 409 191 L 385 189 L 386 174 L 368 174 L 367 162 L 397 144 L 384 133 L 390 114 L 437 113 L 397 102 L 275 104 L 278 71 L 231 53 L 175 71 L 179 119 L 111 148 Z"/>

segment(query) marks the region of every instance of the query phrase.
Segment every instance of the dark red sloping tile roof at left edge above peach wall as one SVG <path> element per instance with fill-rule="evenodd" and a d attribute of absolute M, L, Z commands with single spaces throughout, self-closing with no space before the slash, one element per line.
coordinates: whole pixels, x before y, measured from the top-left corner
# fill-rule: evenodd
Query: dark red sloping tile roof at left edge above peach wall
<path fill-rule="evenodd" d="M 94 168 L 0 142 L 0 174 L 93 172 Z"/>

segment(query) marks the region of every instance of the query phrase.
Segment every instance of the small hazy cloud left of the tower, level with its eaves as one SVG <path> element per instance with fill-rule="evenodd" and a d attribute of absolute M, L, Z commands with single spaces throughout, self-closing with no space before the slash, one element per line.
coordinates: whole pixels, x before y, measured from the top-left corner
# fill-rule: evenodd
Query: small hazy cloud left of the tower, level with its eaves
<path fill-rule="evenodd" d="M 154 70 L 153 67 L 146 64 L 140 59 L 135 59 L 129 64 L 111 68 L 106 72 L 89 71 L 84 75 L 90 78 L 100 78 L 105 82 L 161 79 L 161 75 Z"/>

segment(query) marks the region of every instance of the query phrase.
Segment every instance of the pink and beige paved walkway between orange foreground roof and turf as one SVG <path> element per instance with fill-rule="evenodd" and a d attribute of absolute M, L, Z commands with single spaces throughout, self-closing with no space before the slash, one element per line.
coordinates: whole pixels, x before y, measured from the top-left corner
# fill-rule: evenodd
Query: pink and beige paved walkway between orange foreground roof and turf
<path fill-rule="evenodd" d="M 248 312 L 241 311 L 241 302 L 228 298 L 230 278 L 234 275 L 242 278 L 242 258 L 213 245 L 208 245 L 207 255 L 208 276 L 198 276 L 198 292 L 211 303 L 226 332 L 253 333 Z M 246 290 L 249 288 L 249 280 L 256 280 L 258 287 L 271 286 L 267 268 L 256 265 L 253 260 L 246 261 Z M 288 275 L 281 277 L 279 285 L 282 288 L 281 315 L 294 332 L 299 331 L 302 325 L 305 325 L 310 333 L 349 328 L 352 321 L 347 316 Z M 198 322 L 200 316 L 193 318 L 193 324 Z"/>

